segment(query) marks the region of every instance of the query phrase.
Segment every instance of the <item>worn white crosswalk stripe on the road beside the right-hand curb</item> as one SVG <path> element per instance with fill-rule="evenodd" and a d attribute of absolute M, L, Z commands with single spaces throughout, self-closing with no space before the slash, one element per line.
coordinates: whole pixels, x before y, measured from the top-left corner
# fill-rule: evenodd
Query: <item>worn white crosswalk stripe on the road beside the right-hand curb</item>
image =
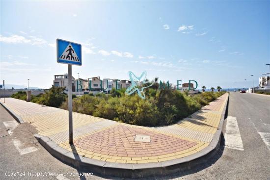
<path fill-rule="evenodd" d="M 224 134 L 225 147 L 243 151 L 243 141 L 238 128 L 236 117 L 228 116 L 226 133 Z"/>

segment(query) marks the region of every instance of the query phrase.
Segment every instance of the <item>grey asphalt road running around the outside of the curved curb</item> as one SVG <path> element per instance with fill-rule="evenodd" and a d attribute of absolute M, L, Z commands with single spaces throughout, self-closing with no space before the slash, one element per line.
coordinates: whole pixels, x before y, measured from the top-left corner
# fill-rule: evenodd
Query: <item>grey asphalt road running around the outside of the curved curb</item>
<path fill-rule="evenodd" d="M 270 96 L 230 93 L 228 116 L 237 119 L 243 151 L 227 148 L 223 139 L 218 153 L 208 163 L 171 176 L 145 180 L 270 180 Z M 12 125 L 12 121 L 12 116 L 0 106 L 0 180 L 103 179 L 95 174 L 87 175 L 91 170 L 76 169 L 54 158 L 33 137 L 36 131 L 29 124 L 21 124 L 11 131 L 6 126 Z M 226 121 L 223 132 L 226 132 Z M 25 175 L 6 176 L 6 172 L 25 172 Z M 74 175 L 70 176 L 71 173 Z"/>

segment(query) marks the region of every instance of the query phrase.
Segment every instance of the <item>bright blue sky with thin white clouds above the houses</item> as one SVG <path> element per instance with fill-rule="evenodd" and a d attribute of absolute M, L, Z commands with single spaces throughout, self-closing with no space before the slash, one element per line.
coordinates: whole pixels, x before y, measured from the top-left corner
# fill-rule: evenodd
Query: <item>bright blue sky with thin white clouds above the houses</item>
<path fill-rule="evenodd" d="M 82 45 L 78 78 L 252 87 L 269 73 L 270 1 L 0 1 L 0 82 L 49 88 L 56 39 Z M 245 80 L 246 79 L 246 80 Z"/>

